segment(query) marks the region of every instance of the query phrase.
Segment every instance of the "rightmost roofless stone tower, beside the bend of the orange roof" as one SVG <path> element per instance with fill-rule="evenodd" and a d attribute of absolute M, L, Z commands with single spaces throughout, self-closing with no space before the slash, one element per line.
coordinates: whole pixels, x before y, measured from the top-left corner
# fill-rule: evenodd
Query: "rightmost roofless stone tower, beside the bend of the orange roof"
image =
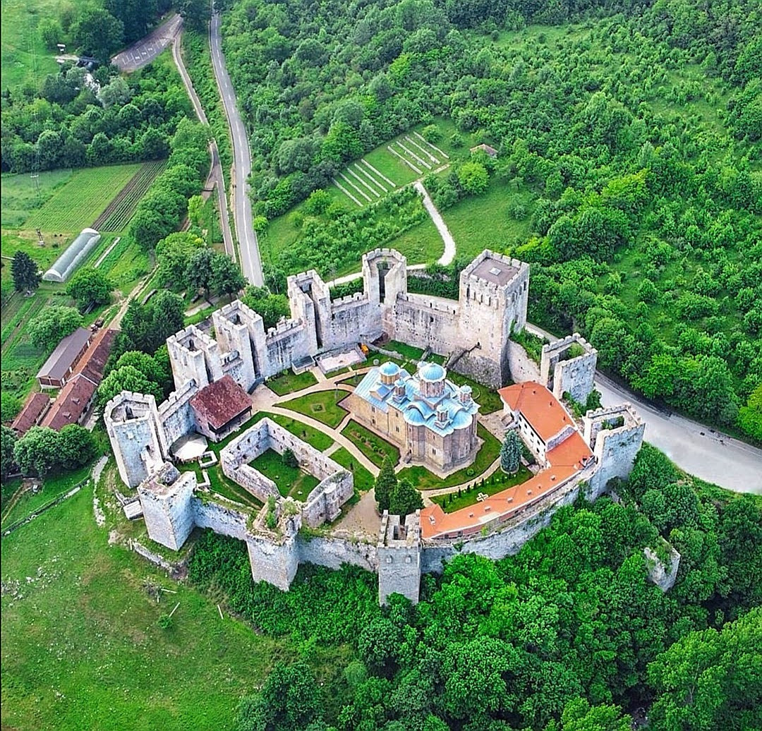
<path fill-rule="evenodd" d="M 645 423 L 629 403 L 588 411 L 582 417 L 584 441 L 598 464 L 589 482 L 590 498 L 606 492 L 610 479 L 627 479 L 643 443 Z"/>

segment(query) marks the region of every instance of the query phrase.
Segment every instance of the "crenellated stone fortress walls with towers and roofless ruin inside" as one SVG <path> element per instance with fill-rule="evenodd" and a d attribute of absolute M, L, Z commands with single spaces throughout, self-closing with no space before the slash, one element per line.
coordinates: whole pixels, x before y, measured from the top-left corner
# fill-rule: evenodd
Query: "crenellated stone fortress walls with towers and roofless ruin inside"
<path fill-rule="evenodd" d="M 421 539 L 418 515 L 401 524 L 384 515 L 375 545 L 339 531 L 299 532 L 302 523 L 316 527 L 333 521 L 353 492 L 352 476 L 330 458 L 270 419 L 263 419 L 232 441 L 220 454 L 223 473 L 267 502 L 276 502 L 277 527 L 266 527 L 267 505 L 253 520 L 235 503 L 200 492 L 193 472 L 178 473 L 171 447 L 194 431 L 188 402 L 194 393 L 229 374 L 245 390 L 316 354 L 354 347 L 386 335 L 447 356 L 447 367 L 482 383 L 501 386 L 510 377 L 511 332 L 526 323 L 529 268 L 520 261 L 482 252 L 463 270 L 459 300 L 407 291 L 405 257 L 392 249 L 363 256 L 363 291 L 331 301 L 318 274 L 289 277 L 291 318 L 267 331 L 257 313 L 239 300 L 213 314 L 215 338 L 191 325 L 167 345 L 176 391 L 156 406 L 152 396 L 123 392 L 104 410 L 104 421 L 120 476 L 137 486 L 149 537 L 177 550 L 194 526 L 244 540 L 255 580 L 287 589 L 299 563 L 338 568 L 352 563 L 379 574 L 379 601 L 399 592 L 418 601 L 421 572 L 440 571 L 443 560 L 459 552 L 501 558 L 515 553 L 561 505 L 574 502 L 580 481 L 559 488 L 546 499 L 495 522 L 480 534 L 458 540 Z M 584 353 L 563 360 L 578 343 Z M 543 374 L 552 388 L 584 401 L 593 387 L 595 351 L 578 335 L 543 348 Z M 595 498 L 613 477 L 626 477 L 644 425 L 629 405 L 599 409 L 584 418 L 584 438 L 596 463 L 585 470 L 588 494 Z M 267 449 L 291 449 L 321 483 L 305 502 L 283 499 L 277 486 L 248 463 Z"/>

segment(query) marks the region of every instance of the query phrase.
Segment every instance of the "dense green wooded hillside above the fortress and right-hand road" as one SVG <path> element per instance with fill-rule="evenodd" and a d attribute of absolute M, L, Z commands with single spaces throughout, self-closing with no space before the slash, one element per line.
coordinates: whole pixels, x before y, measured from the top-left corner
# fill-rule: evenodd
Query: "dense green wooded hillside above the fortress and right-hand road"
<path fill-rule="evenodd" d="M 493 215 L 530 222 L 502 247 L 532 265 L 530 320 L 581 332 L 648 398 L 762 440 L 757 2 L 227 5 L 256 212 L 280 215 L 348 160 L 447 118 L 498 149 Z M 533 23 L 546 27 L 523 32 Z M 441 208 L 478 194 L 483 173 L 469 186 L 462 172 L 427 178 Z M 272 264 L 351 265 L 358 216 L 304 216 Z"/>

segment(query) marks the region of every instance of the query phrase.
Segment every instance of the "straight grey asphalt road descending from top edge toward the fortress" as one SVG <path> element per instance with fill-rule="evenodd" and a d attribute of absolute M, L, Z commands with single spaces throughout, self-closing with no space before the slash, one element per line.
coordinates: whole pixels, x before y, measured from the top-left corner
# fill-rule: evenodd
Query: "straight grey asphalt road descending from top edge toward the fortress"
<path fill-rule="evenodd" d="M 238 104 L 235 101 L 235 91 L 225 68 L 222 40 L 219 35 L 219 14 L 212 14 L 210 25 L 210 43 L 212 48 L 212 65 L 223 100 L 225 114 L 228 118 L 230 136 L 233 143 L 233 222 L 235 233 L 239 240 L 241 255 L 241 270 L 251 284 L 261 287 L 264 284 L 262 262 L 259 256 L 257 234 L 251 226 L 251 200 L 248 197 L 248 176 L 251 175 L 251 152 L 248 147 L 248 135 L 244 127 Z"/>

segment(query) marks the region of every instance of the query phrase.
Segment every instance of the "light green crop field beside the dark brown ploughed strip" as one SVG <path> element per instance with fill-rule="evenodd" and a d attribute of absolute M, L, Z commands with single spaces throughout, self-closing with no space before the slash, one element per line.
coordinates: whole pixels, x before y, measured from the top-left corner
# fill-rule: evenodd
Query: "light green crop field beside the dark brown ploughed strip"
<path fill-rule="evenodd" d="M 140 168 L 141 165 L 133 164 L 75 170 L 66 184 L 29 216 L 23 228 L 78 233 L 85 226 L 92 226 Z"/>

